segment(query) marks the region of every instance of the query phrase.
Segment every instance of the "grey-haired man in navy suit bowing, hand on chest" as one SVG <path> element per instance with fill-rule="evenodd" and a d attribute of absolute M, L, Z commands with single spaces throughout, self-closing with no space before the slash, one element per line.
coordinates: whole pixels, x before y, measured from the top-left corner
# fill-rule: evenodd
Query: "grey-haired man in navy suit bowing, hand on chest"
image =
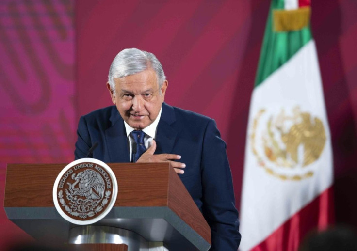
<path fill-rule="evenodd" d="M 98 142 L 90 157 L 104 162 L 170 162 L 211 227 L 211 250 L 236 251 L 241 235 L 226 144 L 214 120 L 164 103 L 167 86 L 152 53 L 121 51 L 107 82 L 115 106 L 81 117 L 75 157 Z"/>

